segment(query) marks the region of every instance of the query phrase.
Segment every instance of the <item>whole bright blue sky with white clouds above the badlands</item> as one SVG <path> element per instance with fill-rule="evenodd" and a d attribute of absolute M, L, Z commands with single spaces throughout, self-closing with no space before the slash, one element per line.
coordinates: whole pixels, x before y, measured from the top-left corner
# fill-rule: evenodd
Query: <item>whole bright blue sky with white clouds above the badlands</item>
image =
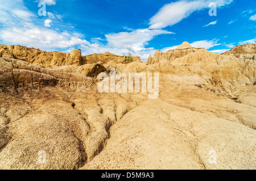
<path fill-rule="evenodd" d="M 46 16 L 39 16 L 39 2 Z M 209 3 L 217 16 L 209 15 Z M 255 0 L 1 0 L 0 43 L 147 60 L 188 41 L 214 53 L 256 41 Z"/>

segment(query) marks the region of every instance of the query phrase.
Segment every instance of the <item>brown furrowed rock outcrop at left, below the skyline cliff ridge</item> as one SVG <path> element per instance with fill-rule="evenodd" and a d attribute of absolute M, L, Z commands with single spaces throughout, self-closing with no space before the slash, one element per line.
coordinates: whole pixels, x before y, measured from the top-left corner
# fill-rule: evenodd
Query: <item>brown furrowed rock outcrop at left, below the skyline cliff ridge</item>
<path fill-rule="evenodd" d="M 86 89 L 92 85 L 92 78 L 78 72 L 40 68 L 26 61 L 13 58 L 0 58 L 0 84 L 2 89 L 40 89 L 46 86 L 72 87 Z"/>

